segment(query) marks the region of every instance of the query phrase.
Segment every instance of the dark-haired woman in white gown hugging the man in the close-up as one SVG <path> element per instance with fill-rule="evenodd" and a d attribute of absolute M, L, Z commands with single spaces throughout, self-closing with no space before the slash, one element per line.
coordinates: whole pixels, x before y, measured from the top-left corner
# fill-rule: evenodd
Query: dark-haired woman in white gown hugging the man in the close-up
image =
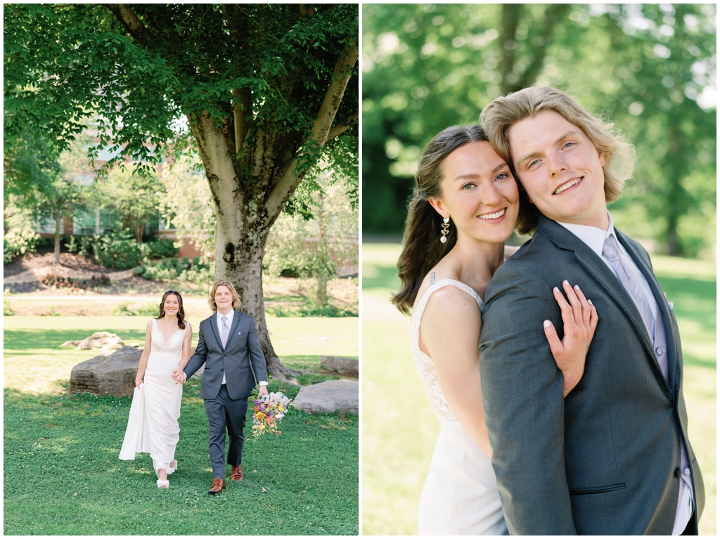
<path fill-rule="evenodd" d="M 482 298 L 518 217 L 518 184 L 480 125 L 436 135 L 420 155 L 415 182 L 397 263 L 402 289 L 393 302 L 405 314 L 412 307 L 415 365 L 441 423 L 418 529 L 422 535 L 504 535 L 478 345 Z M 557 288 L 554 296 L 564 338 L 549 320 L 544 331 L 567 395 L 582 377 L 598 314 L 577 286 L 562 286 L 567 299 Z"/>

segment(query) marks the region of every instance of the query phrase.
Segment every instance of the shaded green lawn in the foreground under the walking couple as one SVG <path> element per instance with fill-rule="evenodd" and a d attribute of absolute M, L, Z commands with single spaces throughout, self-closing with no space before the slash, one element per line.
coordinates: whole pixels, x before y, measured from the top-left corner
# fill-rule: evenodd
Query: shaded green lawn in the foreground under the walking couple
<path fill-rule="evenodd" d="M 279 389 L 271 382 L 271 391 Z M 356 415 L 315 417 L 291 408 L 280 424 L 281 436 L 253 438 L 248 428 L 246 480 L 228 481 L 225 492 L 210 497 L 207 417 L 199 380 L 184 386 L 179 467 L 167 491 L 157 488 L 148 455 L 118 459 L 130 403 L 130 397 L 4 391 L 4 533 L 359 532 Z"/>

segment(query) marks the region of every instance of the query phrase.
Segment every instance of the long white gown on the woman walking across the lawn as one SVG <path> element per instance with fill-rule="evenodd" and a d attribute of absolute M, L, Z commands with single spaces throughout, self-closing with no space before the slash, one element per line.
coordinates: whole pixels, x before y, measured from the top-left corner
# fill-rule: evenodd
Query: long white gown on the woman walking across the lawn
<path fill-rule="evenodd" d="M 175 460 L 175 446 L 180 438 L 182 384 L 176 384 L 172 376 L 180 364 L 184 340 L 185 330 L 177 330 L 166 343 L 153 319 L 145 381 L 132 396 L 120 449 L 122 461 L 134 461 L 135 453 L 150 453 L 156 474 L 160 469 L 167 474 L 174 471 L 170 463 Z"/>

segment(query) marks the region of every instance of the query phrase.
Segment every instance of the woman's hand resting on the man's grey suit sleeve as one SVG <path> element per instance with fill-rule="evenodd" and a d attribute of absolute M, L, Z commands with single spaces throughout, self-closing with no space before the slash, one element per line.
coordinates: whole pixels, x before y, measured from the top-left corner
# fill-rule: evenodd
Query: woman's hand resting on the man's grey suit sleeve
<path fill-rule="evenodd" d="M 573 287 L 567 281 L 562 281 L 562 288 L 567 294 L 567 300 L 557 286 L 553 294 L 562 312 L 563 339 L 559 339 L 550 320 L 545 320 L 543 327 L 557 368 L 562 371 L 562 396 L 566 397 L 577 386 L 585 371 L 585 355 L 598 325 L 598 311 L 589 299 L 585 299 L 580 286 Z"/>

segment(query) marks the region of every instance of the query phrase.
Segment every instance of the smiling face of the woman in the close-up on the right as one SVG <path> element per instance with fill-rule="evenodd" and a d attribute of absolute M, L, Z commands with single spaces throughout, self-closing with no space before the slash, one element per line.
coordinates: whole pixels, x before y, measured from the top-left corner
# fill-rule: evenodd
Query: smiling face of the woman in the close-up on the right
<path fill-rule="evenodd" d="M 458 237 L 489 243 L 507 240 L 518 218 L 518 184 L 490 142 L 458 148 L 445 158 L 442 171 L 442 196 L 431 199 L 431 204 L 451 218 Z"/>

